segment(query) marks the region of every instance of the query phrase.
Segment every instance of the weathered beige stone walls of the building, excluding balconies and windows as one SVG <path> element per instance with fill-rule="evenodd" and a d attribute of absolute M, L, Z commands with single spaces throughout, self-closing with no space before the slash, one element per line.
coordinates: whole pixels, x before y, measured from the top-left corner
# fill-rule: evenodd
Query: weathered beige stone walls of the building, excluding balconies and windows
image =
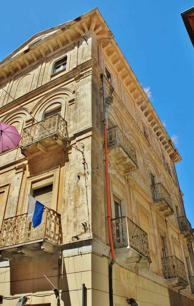
<path fill-rule="evenodd" d="M 67 32 L 64 34 L 64 31 Z M 28 50 L 26 58 L 22 52 L 30 42 L 17 50 L 16 58 L 7 60 L 11 74 L 6 72 L 6 62 L 0 67 L 1 86 L 11 95 L 0 89 L 0 121 L 15 125 L 22 134 L 25 127 L 41 121 L 45 111 L 61 105 L 61 116 L 67 122 L 68 144 L 49 140 L 42 151 L 37 144 L 30 158 L 24 157 L 19 147 L 1 154 L 0 222 L 27 212 L 27 194 L 33 192 L 33 186 L 53 183 L 51 208 L 61 215 L 61 247 L 46 249 L 41 241 L 36 244 L 36 250 L 24 254 L 16 249 L 11 255 L 6 248 L 2 250 L 5 261 L 0 262 L 0 293 L 8 297 L 33 294 L 31 304 L 53 306 L 56 299 L 48 295 L 53 291 L 44 274 L 57 286 L 60 272 L 61 305 L 81 305 L 82 283 L 87 288 L 87 305 L 108 305 L 111 255 L 106 218 L 100 39 L 113 35 L 95 10 L 91 16 L 87 13 L 80 20 L 70 22 L 67 28 L 65 25 L 63 29 L 57 28 L 56 36 L 53 33 L 50 32 L 50 42 L 49 39 L 47 44 L 42 41 L 34 51 Z M 165 238 L 167 256 L 177 256 L 184 262 L 189 277 L 187 241 L 177 221 L 176 207 L 182 213 L 172 163 L 175 148 L 114 40 L 104 41 L 102 46 L 104 70 L 108 69 L 112 79 L 110 83 L 104 77 L 107 119 L 118 125 L 134 146 L 138 164 L 135 172 L 125 174 L 125 166 L 120 166 L 114 155 L 109 154 L 111 218 L 115 218 L 114 195 L 120 200 L 122 216 L 148 234 L 152 261 L 137 270 L 135 263 L 130 262 L 131 248 L 125 248 L 123 257 L 116 251 L 114 303 L 126 305 L 126 298 L 132 297 L 139 306 L 170 305 L 160 235 Z M 28 62 L 30 56 L 34 62 L 32 59 Z M 67 56 L 66 70 L 53 73 L 55 62 L 64 56 Z M 179 160 L 181 157 L 177 154 L 176 161 Z M 150 174 L 170 194 L 173 215 L 165 216 L 155 206 Z M 22 247 L 27 248 L 25 244 Z M 141 257 L 137 253 L 133 256 Z M 60 271 L 57 270 L 59 258 Z M 183 292 L 193 299 L 190 286 Z M 3 304 L 14 306 L 16 300 L 5 300 Z"/>

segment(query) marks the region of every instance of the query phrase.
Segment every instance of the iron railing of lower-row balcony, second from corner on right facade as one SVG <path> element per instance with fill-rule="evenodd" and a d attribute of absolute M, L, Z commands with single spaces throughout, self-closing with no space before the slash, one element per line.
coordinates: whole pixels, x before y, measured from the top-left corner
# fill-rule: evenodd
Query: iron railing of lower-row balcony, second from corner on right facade
<path fill-rule="evenodd" d="M 165 278 L 178 277 L 188 282 L 185 270 L 185 264 L 176 256 L 169 256 L 162 259 Z"/>

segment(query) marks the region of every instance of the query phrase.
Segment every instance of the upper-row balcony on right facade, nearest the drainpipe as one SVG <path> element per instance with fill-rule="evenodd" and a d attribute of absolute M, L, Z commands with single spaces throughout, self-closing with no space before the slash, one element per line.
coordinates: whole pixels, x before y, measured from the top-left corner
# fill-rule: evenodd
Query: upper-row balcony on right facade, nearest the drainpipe
<path fill-rule="evenodd" d="M 138 169 L 136 150 L 118 126 L 107 130 L 108 154 L 128 174 Z"/>

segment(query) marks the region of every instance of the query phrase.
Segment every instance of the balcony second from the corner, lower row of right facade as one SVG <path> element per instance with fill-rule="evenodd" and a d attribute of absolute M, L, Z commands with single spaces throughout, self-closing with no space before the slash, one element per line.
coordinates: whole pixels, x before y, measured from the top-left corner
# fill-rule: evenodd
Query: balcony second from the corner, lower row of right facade
<path fill-rule="evenodd" d="M 168 279 L 167 285 L 178 290 L 186 289 L 189 285 L 185 264 L 176 256 L 162 259 L 164 277 Z"/>

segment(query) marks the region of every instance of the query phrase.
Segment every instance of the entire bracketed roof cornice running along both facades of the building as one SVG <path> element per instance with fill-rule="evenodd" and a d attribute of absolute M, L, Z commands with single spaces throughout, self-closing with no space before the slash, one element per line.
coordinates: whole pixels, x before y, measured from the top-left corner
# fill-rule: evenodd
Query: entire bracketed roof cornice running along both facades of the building
<path fill-rule="evenodd" d="M 119 74 L 126 88 L 128 88 L 134 102 L 145 116 L 150 128 L 153 129 L 164 149 L 167 151 L 167 154 L 172 158 L 176 148 L 170 140 L 170 137 L 166 129 L 163 127 L 152 104 L 145 95 L 145 92 L 141 88 L 136 76 L 130 68 L 130 65 L 114 41 L 114 36 L 102 18 L 99 10 L 97 8 L 93 9 L 73 21 L 57 26 L 54 29 L 58 27 L 59 29 L 56 32 L 46 36 L 44 39 L 34 43 L 30 47 L 29 45 L 31 44 L 29 44 L 27 49 L 22 51 L 20 54 L 9 58 L 5 62 L 3 61 L 0 65 L 0 82 L 5 81 L 27 67 L 35 65 L 40 60 L 48 57 L 56 51 L 58 52 L 58 50 L 62 48 L 66 46 L 70 47 L 71 44 L 73 45 L 75 43 L 75 40 L 83 39 L 82 35 L 84 34 L 93 32 L 99 43 L 101 39 L 111 39 L 110 41 L 102 42 L 104 53 L 114 65 L 115 70 Z M 44 32 L 42 32 L 42 34 L 44 34 Z M 38 36 L 38 34 L 36 35 Z M 28 40 L 26 44 L 29 41 L 31 40 Z M 25 43 L 22 46 L 24 47 Z M 177 152 L 174 161 L 179 162 L 180 160 L 181 156 Z"/>

